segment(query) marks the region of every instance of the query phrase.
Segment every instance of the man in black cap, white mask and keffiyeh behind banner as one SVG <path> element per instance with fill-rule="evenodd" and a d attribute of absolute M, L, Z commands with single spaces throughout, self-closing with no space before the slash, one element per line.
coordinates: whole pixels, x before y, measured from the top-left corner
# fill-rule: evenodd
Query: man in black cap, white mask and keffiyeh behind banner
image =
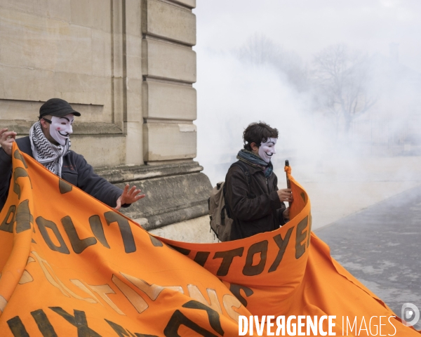
<path fill-rule="evenodd" d="M 0 211 L 6 202 L 11 180 L 14 141 L 20 151 L 29 154 L 56 176 L 115 209 L 145 197 L 135 186 L 129 190 L 129 185 L 126 185 L 121 190 L 112 185 L 95 174 L 81 154 L 69 150 L 74 117 L 80 115 L 65 100 L 51 98 L 39 109 L 39 121 L 32 125 L 29 136 L 15 140 L 17 133 L 14 131 L 7 128 L 0 131 Z"/>

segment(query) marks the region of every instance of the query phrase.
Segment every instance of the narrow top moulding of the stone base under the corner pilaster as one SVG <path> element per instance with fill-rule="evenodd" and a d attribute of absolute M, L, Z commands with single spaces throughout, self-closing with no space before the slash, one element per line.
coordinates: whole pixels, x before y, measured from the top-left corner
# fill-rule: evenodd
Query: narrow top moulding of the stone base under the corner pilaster
<path fill-rule="evenodd" d="M 188 173 L 199 173 L 200 171 L 203 171 L 203 167 L 197 161 L 180 164 L 102 167 L 95 169 L 95 173 L 113 184 L 166 176 L 179 176 Z"/>

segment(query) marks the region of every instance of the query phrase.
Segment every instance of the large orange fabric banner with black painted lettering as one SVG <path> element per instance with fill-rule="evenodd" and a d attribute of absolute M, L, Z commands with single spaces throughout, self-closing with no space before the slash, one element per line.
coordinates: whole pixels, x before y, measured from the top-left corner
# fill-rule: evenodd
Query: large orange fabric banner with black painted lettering
<path fill-rule="evenodd" d="M 291 176 L 279 230 L 190 244 L 152 236 L 15 143 L 12 157 L 0 336 L 420 336 L 330 257 Z"/>

